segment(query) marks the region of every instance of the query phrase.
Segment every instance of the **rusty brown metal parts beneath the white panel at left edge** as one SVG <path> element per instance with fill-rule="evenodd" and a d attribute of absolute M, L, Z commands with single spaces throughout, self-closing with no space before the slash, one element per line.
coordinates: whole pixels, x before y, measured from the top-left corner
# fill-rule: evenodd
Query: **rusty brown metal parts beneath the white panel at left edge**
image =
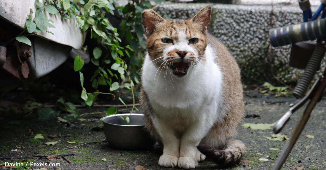
<path fill-rule="evenodd" d="M 27 79 L 29 69 L 26 60 L 28 57 L 32 56 L 32 52 L 29 51 L 30 48 L 29 45 L 18 41 L 9 45 L 2 68 L 20 80 Z"/>

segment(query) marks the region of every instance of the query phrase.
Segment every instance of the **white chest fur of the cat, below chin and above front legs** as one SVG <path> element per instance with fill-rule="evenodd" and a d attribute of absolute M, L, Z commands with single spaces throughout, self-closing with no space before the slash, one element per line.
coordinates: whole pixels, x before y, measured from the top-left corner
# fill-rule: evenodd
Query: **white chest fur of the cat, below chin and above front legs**
<path fill-rule="evenodd" d="M 156 112 L 182 114 L 184 111 L 196 115 L 203 107 L 215 107 L 211 110 L 217 110 L 216 107 L 222 102 L 222 73 L 214 63 L 214 54 L 209 46 L 205 54 L 205 63 L 191 65 L 183 79 L 173 78 L 174 75 L 168 71 L 163 73 L 146 56 L 142 86 Z"/>

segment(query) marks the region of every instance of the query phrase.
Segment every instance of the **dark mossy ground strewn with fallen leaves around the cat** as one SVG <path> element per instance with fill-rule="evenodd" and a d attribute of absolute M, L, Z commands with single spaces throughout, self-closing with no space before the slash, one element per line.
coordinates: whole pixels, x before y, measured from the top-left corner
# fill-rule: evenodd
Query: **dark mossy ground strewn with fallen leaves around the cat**
<path fill-rule="evenodd" d="M 15 93 L 10 93 L 15 96 Z M 5 96 L 5 97 L 8 97 Z M 16 94 L 17 97 L 17 94 Z M 14 100 L 9 97 L 8 100 Z M 293 97 L 273 97 L 260 94 L 258 91 L 247 91 L 244 95 L 246 103 L 246 115 L 259 115 L 258 117 L 247 117 L 243 123 L 274 123 L 289 109 L 289 104 L 295 101 Z M 2 100 L 4 102 L 4 100 Z M 80 107 L 80 114 L 105 112 L 107 107 Z M 126 109 L 120 109 L 122 113 Z M 312 112 L 302 135 L 293 148 L 286 165 L 283 169 L 294 170 L 303 167 L 304 170 L 325 170 L 326 169 L 326 100 L 317 104 Z M 0 110 L 1 112 L 1 110 Z M 36 111 L 35 111 L 36 112 Z M 52 154 L 74 154 L 73 156 L 58 157 L 50 161 L 44 157 L 25 159 L 0 159 L 0 165 L 5 163 L 23 163 L 17 168 L 4 169 L 49 169 L 49 170 L 133 170 L 140 165 L 147 170 L 167 169 L 158 165 L 158 159 L 162 148 L 157 146 L 143 151 L 115 150 L 104 142 L 102 123 L 99 120 L 105 113 L 83 115 L 84 121 L 64 123 L 56 118 L 39 120 L 37 113 L 29 115 L 15 114 L 2 111 L 0 114 L 0 157 L 38 156 Z M 291 116 L 290 121 L 281 133 L 289 137 L 301 116 L 303 108 Z M 82 120 L 83 120 L 82 119 Z M 42 134 L 44 139 L 34 139 L 36 134 Z M 268 170 L 272 168 L 275 159 L 286 143 L 284 141 L 272 141 L 264 136 L 271 136 L 272 129 L 252 130 L 239 126 L 237 139 L 245 143 L 246 152 L 242 162 L 230 168 L 232 170 Z M 59 135 L 57 138 L 48 138 L 48 135 Z M 313 135 L 314 138 L 307 138 L 306 135 Z M 58 141 L 54 146 L 44 143 Z M 67 141 L 75 141 L 70 144 Z M 84 143 L 95 142 L 72 149 L 59 150 L 55 148 L 69 148 Z M 271 150 L 270 148 L 274 148 Z M 276 150 L 276 149 L 279 150 Z M 103 161 L 102 159 L 106 159 Z M 266 158 L 268 161 L 259 161 L 259 158 Z M 66 161 L 66 160 L 67 161 Z M 30 162 L 37 163 L 31 165 Z M 44 163 L 48 166 L 42 166 Z M 54 163 L 54 164 L 52 164 Z M 25 166 L 27 164 L 27 166 Z M 53 166 L 49 166 L 53 165 Z M 138 170 L 139 167 L 136 167 Z M 0 167 L 0 169 L 2 169 Z M 219 169 L 216 164 L 205 160 L 199 163 L 197 169 Z M 302 168 L 301 168 L 302 169 Z"/>

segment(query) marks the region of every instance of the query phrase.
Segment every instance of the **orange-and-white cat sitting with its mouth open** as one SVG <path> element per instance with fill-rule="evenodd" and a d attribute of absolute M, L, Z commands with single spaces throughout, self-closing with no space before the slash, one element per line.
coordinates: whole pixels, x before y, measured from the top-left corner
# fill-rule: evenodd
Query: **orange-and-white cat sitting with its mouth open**
<path fill-rule="evenodd" d="M 208 30 L 211 7 L 190 20 L 142 12 L 147 55 L 141 73 L 145 127 L 163 143 L 158 164 L 192 169 L 212 158 L 228 166 L 240 161 L 244 143 L 235 140 L 244 116 L 240 69 Z"/>

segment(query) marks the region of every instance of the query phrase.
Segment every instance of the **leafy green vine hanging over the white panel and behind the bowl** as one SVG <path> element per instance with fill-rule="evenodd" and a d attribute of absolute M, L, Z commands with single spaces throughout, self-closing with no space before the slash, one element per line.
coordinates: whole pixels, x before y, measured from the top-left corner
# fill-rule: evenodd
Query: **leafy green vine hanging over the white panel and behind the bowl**
<path fill-rule="evenodd" d="M 157 4 L 165 2 L 164 0 L 155 0 Z M 91 78 L 92 87 L 96 89 L 95 92 L 89 93 L 84 88 L 84 76 L 81 69 L 84 65 L 84 61 L 80 56 L 76 56 L 74 61 L 74 70 L 79 71 L 80 81 L 82 86 L 81 98 L 89 106 L 92 105 L 96 95 L 98 94 L 110 94 L 99 92 L 97 90 L 98 85 L 109 85 L 110 91 L 115 91 L 120 88 L 118 81 L 112 80 L 115 77 L 117 80 L 125 80 L 125 75 L 130 80 L 130 87 L 124 86 L 129 89 L 133 97 L 133 109 L 138 110 L 135 107 L 134 96 L 134 81 L 139 83 L 138 68 L 142 65 L 142 54 L 145 50 L 145 39 L 143 36 L 143 26 L 141 13 L 146 8 L 152 8 L 150 1 L 133 0 L 129 1 L 124 7 L 116 7 L 122 20 L 119 28 L 114 28 L 109 19 L 105 17 L 106 13 L 114 15 L 115 2 L 113 0 L 46 0 L 44 3 L 36 0 L 37 9 L 35 11 L 35 17 L 32 17 L 33 11 L 30 10 L 30 15 L 26 20 L 25 27 L 28 33 L 36 34 L 39 31 L 44 33 L 52 32 L 46 31 L 46 27 L 55 28 L 55 23 L 51 19 L 47 19 L 44 15 L 44 11 L 49 14 L 57 15 L 62 19 L 69 19 L 69 21 L 76 20 L 78 26 L 82 32 L 91 34 L 91 38 L 97 40 L 97 47 L 93 50 L 93 56 L 91 62 L 98 68 L 95 70 L 94 75 Z M 51 23 L 50 23 L 51 22 Z M 52 25 L 54 24 L 54 25 Z M 69 22 L 70 24 L 70 22 Z M 53 34 L 54 35 L 54 34 Z M 121 39 L 126 39 L 130 44 L 122 47 Z M 16 37 L 16 39 L 22 43 L 31 44 L 29 39 L 24 35 Z M 114 59 L 114 63 L 111 64 L 109 55 L 103 55 L 102 49 L 108 49 L 111 52 L 111 57 Z M 126 56 L 130 61 L 128 72 L 127 63 L 123 58 Z M 106 66 L 111 64 L 111 69 L 106 69 Z M 117 74 L 113 74 L 111 70 L 116 70 Z M 115 96 L 114 96 L 115 98 Z M 124 105 L 124 101 L 118 98 Z M 116 108 L 109 108 L 108 115 L 116 114 Z"/>

